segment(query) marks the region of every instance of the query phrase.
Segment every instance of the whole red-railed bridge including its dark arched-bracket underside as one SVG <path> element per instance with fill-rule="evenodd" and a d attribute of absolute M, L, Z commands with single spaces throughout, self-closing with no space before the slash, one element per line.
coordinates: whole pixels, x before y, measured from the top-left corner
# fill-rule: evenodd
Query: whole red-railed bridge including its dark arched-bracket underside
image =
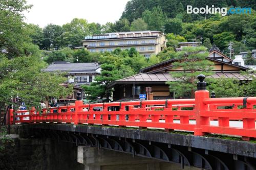
<path fill-rule="evenodd" d="M 110 161 L 96 154 L 88 162 L 84 152 L 91 148 L 181 168 L 256 169 L 256 97 L 209 98 L 204 78 L 198 76 L 195 99 L 83 104 L 78 93 L 72 106 L 10 109 L 10 124 L 28 124 L 34 136 L 75 143 L 78 161 L 88 167 Z"/>

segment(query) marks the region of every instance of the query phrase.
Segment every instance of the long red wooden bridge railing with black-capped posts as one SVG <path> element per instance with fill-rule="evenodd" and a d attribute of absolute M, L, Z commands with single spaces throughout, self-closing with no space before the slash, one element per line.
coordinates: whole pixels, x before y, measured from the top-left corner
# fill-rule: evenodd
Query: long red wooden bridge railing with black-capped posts
<path fill-rule="evenodd" d="M 198 136 L 213 133 L 242 136 L 244 140 L 256 138 L 256 109 L 253 109 L 256 97 L 209 98 L 209 91 L 203 81 L 205 77 L 199 75 L 198 78 L 200 82 L 195 99 L 83 104 L 78 95 L 74 106 L 45 108 L 41 112 L 34 107 L 29 111 L 11 109 L 10 119 L 13 120 L 12 124 L 114 125 L 193 131 Z M 94 108 L 100 110 L 94 111 Z M 210 120 L 218 120 L 217 125 L 210 125 Z M 229 120 L 241 120 L 242 128 L 230 127 Z"/>

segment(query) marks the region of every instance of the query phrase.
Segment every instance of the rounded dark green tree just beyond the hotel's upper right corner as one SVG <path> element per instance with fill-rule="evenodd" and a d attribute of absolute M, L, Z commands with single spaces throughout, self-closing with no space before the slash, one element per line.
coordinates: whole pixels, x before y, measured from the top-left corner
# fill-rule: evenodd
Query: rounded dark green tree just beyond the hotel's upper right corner
<path fill-rule="evenodd" d="M 182 20 L 177 18 L 167 19 L 164 28 L 166 33 L 180 34 L 182 31 Z"/>

